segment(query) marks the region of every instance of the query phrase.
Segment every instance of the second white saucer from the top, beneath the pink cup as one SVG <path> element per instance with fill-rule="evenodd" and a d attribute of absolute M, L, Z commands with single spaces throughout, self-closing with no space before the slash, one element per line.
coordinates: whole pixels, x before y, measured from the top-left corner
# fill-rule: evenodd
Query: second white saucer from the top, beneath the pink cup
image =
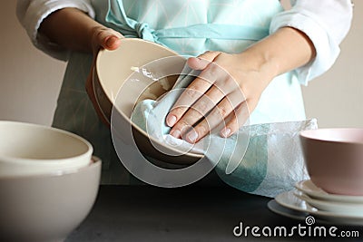
<path fill-rule="evenodd" d="M 341 215 L 358 215 L 363 217 L 363 204 L 343 203 L 310 198 L 308 195 L 298 190 L 294 191 L 294 195 L 301 200 L 306 201 L 310 206 L 318 208 L 321 211 L 328 211 Z"/>

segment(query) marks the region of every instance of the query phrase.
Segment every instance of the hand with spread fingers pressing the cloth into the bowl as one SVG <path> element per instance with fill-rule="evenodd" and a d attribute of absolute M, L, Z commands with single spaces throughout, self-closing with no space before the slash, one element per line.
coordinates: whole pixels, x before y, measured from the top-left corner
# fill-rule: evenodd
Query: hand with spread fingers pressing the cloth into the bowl
<path fill-rule="evenodd" d="M 238 131 L 275 76 L 270 63 L 247 52 L 206 52 L 188 59 L 188 65 L 201 74 L 182 92 L 166 123 L 172 127 L 172 136 L 190 143 L 201 140 L 221 122 L 222 137 Z"/>

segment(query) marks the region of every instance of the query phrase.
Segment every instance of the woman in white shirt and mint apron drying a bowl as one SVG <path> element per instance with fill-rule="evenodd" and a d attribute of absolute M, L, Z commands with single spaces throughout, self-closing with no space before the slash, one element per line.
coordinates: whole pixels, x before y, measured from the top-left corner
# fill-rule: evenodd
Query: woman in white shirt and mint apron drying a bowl
<path fill-rule="evenodd" d="M 213 81 L 191 82 L 195 92 L 185 92 L 178 101 L 189 108 L 172 109 L 168 115 L 177 138 L 184 127 L 200 121 L 191 107 L 201 108 L 195 101 L 202 93 L 219 103 L 202 112 L 219 111 L 223 118 L 236 113 L 221 129 L 222 137 L 240 128 L 246 110 L 250 123 L 304 120 L 299 85 L 326 72 L 337 59 L 352 6 L 348 0 L 291 2 L 292 8 L 284 11 L 277 0 L 23 0 L 18 1 L 17 15 L 36 47 L 68 60 L 54 127 L 93 143 L 94 154 L 103 159 L 103 183 L 130 183 L 114 154 L 110 131 L 87 97 L 94 54 L 100 48 L 117 49 L 123 37 L 139 37 L 198 56 L 189 65 Z M 227 102 L 238 92 L 244 99 Z M 214 127 L 222 120 L 199 122 L 185 139 L 194 143 L 205 136 L 210 131 L 207 121 Z"/>

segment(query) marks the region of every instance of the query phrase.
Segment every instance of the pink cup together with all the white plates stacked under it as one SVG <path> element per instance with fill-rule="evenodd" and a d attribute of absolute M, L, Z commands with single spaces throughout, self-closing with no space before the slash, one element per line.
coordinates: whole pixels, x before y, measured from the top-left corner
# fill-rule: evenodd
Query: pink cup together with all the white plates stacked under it
<path fill-rule="evenodd" d="M 362 225 L 363 129 L 301 131 L 300 140 L 310 179 L 279 194 L 269 208 L 290 218 Z"/>

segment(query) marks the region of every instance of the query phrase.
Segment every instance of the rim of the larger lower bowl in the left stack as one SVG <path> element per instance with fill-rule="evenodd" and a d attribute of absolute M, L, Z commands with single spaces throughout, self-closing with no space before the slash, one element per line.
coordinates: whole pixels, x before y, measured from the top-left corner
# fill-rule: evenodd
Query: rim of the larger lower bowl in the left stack
<path fill-rule="evenodd" d="M 10 176 L 4 176 L 0 177 L 0 182 L 3 180 L 9 180 L 9 179 L 40 179 L 40 178 L 57 178 L 57 177 L 64 177 L 64 176 L 70 176 L 75 173 L 81 173 L 85 171 L 86 169 L 96 169 L 97 167 L 101 167 L 102 160 L 99 157 L 92 156 L 91 160 L 86 166 L 83 166 L 81 168 L 76 169 L 59 169 L 54 171 L 49 171 L 47 173 L 41 173 L 41 174 L 28 174 L 28 175 L 10 175 Z"/>

